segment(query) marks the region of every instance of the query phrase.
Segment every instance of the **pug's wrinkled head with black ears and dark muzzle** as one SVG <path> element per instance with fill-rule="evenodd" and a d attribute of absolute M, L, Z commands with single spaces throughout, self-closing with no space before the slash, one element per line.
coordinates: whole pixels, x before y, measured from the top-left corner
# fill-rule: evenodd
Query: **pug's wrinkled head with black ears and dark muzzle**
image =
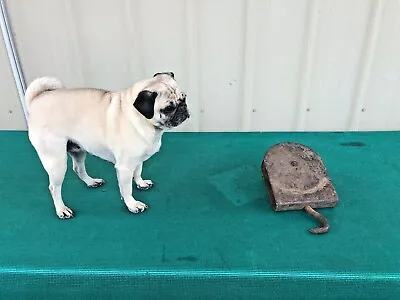
<path fill-rule="evenodd" d="M 156 73 L 138 94 L 134 107 L 159 129 L 177 127 L 190 117 L 186 94 L 172 72 Z"/>

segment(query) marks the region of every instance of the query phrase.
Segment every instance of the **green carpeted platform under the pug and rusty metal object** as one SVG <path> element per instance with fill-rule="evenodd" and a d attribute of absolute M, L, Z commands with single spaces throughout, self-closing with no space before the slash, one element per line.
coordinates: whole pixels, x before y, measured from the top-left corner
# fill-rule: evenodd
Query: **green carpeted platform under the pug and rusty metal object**
<path fill-rule="evenodd" d="M 324 159 L 339 206 L 313 236 L 305 212 L 273 212 L 260 164 L 305 143 Z M 0 133 L 0 298 L 399 299 L 400 133 L 167 134 L 145 164 L 150 205 L 130 214 L 111 164 L 86 188 L 69 167 L 61 221 L 25 132 Z M 70 164 L 71 165 L 71 164 Z"/>

